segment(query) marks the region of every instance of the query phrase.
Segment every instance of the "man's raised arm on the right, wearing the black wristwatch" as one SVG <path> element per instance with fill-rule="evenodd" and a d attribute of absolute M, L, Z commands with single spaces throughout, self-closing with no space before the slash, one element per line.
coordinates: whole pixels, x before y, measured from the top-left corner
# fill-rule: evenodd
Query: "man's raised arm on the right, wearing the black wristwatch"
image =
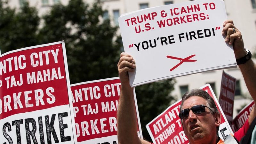
<path fill-rule="evenodd" d="M 226 20 L 223 25 L 224 28 L 222 34 L 226 35 L 225 41 L 229 45 L 233 44 L 236 59 L 244 57 L 247 52 L 244 50 L 244 42 L 240 31 L 234 26 L 232 20 Z M 239 64 L 238 66 L 243 74 L 248 91 L 250 92 L 254 103 L 256 103 L 256 66 L 252 59 L 248 60 L 244 64 Z M 249 116 L 249 124 L 252 123 L 255 116 L 256 110 L 254 107 Z"/>

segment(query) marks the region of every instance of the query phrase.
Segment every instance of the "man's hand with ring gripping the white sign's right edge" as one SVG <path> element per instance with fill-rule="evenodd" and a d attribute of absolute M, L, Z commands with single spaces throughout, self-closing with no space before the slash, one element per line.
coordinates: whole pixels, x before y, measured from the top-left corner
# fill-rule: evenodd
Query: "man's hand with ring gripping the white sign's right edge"
<path fill-rule="evenodd" d="M 233 44 L 236 59 L 242 58 L 246 55 L 244 50 L 244 41 L 241 32 L 234 26 L 233 20 L 226 20 L 223 23 L 222 35 L 226 36 L 225 41 L 231 45 Z"/>

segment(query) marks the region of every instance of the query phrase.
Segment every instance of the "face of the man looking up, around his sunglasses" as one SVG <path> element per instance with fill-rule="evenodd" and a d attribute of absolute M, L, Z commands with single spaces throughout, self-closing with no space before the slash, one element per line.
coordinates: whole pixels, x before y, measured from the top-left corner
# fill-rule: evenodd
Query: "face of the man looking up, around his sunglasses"
<path fill-rule="evenodd" d="M 185 100 L 182 109 L 191 108 L 196 105 L 207 105 L 207 101 L 198 96 L 192 96 Z M 212 114 L 209 108 L 205 112 L 194 114 L 189 111 L 188 118 L 182 119 L 183 129 L 190 143 L 208 143 L 216 140 L 216 126 L 219 126 L 220 117 Z"/>

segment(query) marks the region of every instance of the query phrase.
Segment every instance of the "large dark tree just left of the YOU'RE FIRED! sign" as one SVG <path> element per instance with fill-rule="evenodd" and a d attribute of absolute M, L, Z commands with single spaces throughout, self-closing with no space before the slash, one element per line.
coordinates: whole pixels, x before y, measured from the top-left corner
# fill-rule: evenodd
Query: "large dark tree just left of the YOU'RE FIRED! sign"
<path fill-rule="evenodd" d="M 121 40 L 110 20 L 99 19 L 103 12 L 99 1 L 90 6 L 70 0 L 66 6 L 53 6 L 43 17 L 39 39 L 41 43 L 65 40 L 71 83 L 117 76 Z"/>

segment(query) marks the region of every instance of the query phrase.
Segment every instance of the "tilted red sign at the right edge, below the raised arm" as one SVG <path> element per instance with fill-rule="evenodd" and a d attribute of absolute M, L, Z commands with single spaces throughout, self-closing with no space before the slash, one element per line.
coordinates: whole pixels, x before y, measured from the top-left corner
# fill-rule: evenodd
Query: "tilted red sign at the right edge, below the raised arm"
<path fill-rule="evenodd" d="M 249 118 L 249 115 L 253 107 L 254 107 L 254 101 L 252 100 L 233 119 L 231 127 L 234 132 L 238 131 L 244 125 L 245 121 Z"/>

